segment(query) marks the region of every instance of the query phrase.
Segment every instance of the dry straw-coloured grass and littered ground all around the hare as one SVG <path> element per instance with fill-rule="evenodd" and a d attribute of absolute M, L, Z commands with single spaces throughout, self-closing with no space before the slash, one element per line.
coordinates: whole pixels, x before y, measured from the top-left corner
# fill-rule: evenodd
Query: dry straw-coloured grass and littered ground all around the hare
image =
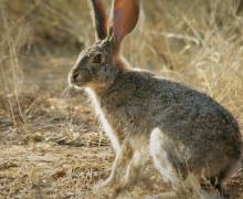
<path fill-rule="evenodd" d="M 207 92 L 243 126 L 243 1 L 142 8 L 126 57 Z M 93 42 L 86 0 L 0 0 L 0 198 L 95 198 L 91 188 L 114 155 L 86 96 L 63 92 L 77 53 Z M 149 165 L 146 175 L 155 185 L 124 198 L 166 190 Z M 226 188 L 243 197 L 242 170 Z"/>

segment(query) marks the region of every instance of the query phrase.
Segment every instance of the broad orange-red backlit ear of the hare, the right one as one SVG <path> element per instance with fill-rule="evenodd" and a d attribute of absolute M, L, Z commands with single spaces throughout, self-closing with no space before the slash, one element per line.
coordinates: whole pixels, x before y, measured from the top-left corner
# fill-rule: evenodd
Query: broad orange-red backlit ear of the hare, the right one
<path fill-rule="evenodd" d="M 112 10 L 112 28 L 109 34 L 118 48 L 123 39 L 129 34 L 138 21 L 139 0 L 114 0 Z"/>

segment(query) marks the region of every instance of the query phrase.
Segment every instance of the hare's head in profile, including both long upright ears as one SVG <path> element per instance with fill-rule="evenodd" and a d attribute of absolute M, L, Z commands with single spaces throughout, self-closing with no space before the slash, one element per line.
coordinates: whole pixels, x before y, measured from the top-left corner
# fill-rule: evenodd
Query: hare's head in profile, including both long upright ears
<path fill-rule="evenodd" d="M 68 75 L 75 87 L 108 87 L 119 71 L 128 70 L 119 56 L 123 39 L 135 28 L 139 0 L 114 0 L 108 20 L 102 0 L 91 0 L 95 43 L 83 50 Z"/>

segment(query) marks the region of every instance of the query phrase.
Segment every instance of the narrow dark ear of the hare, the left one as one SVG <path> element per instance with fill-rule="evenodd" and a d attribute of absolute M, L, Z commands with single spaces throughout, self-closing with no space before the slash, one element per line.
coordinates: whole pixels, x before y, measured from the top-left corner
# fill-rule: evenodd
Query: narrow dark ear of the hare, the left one
<path fill-rule="evenodd" d="M 96 32 L 96 40 L 104 40 L 107 36 L 108 18 L 102 0 L 89 0 L 92 19 Z"/>

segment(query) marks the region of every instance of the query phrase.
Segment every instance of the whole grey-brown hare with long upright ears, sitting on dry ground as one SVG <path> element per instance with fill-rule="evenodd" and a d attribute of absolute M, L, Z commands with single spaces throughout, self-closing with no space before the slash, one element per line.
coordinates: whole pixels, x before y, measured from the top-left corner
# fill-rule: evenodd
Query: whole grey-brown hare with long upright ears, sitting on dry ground
<path fill-rule="evenodd" d="M 129 66 L 119 52 L 138 21 L 139 0 L 114 0 L 109 20 L 102 0 L 91 0 L 91 8 L 96 42 L 81 52 L 68 83 L 91 96 L 116 153 L 102 186 L 135 182 L 151 157 L 171 185 L 193 174 L 222 191 L 242 155 L 233 116 L 204 93 Z"/>

